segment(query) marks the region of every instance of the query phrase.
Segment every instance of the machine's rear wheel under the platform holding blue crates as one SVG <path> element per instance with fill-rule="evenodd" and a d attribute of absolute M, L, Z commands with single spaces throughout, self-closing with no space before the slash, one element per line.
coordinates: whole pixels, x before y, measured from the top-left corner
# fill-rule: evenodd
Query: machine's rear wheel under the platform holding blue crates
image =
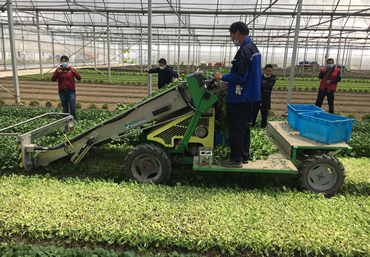
<path fill-rule="evenodd" d="M 333 196 L 342 189 L 346 178 L 343 164 L 334 156 L 313 155 L 298 167 L 298 181 L 303 189 Z"/>

